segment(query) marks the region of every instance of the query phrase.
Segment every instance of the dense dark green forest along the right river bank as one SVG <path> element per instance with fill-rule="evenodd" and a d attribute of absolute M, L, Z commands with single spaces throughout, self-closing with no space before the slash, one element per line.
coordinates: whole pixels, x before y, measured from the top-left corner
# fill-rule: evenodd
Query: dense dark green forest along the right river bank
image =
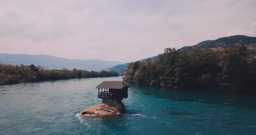
<path fill-rule="evenodd" d="M 154 61 L 130 63 L 123 79 L 174 90 L 256 93 L 255 78 L 255 55 L 248 54 L 246 45 L 236 45 L 222 51 L 165 48 Z"/>

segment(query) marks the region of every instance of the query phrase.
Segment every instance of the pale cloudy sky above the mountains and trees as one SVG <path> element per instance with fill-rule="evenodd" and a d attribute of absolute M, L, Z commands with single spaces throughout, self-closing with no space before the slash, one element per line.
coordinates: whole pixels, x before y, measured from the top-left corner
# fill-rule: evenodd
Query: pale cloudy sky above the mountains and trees
<path fill-rule="evenodd" d="M 256 36 L 256 0 L 0 0 L 0 53 L 131 62 Z"/>

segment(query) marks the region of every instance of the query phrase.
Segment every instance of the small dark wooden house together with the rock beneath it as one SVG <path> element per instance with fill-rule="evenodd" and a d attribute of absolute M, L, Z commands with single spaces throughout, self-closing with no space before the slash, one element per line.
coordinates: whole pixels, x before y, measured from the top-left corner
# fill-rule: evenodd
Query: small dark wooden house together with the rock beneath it
<path fill-rule="evenodd" d="M 102 99 L 102 104 L 92 106 L 80 112 L 83 116 L 110 116 L 125 113 L 123 98 L 128 97 L 128 87 L 123 81 L 103 81 L 96 88 L 98 98 Z"/>

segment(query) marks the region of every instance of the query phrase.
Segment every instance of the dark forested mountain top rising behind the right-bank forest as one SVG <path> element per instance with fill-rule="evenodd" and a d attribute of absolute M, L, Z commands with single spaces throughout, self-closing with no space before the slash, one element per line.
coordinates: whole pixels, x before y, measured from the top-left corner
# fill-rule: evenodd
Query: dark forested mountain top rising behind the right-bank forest
<path fill-rule="evenodd" d="M 245 35 L 233 35 L 223 37 L 216 40 L 206 40 L 193 46 L 182 47 L 182 51 L 191 51 L 193 48 L 231 48 L 238 44 L 247 45 L 249 53 L 255 55 L 256 53 L 256 37 L 249 37 Z"/>

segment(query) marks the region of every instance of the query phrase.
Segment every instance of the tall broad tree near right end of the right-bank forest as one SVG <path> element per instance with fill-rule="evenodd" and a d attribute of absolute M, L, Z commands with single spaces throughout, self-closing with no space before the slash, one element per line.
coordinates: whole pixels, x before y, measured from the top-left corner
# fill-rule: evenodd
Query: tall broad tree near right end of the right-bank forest
<path fill-rule="evenodd" d="M 246 84 L 247 61 L 246 45 L 237 45 L 235 48 L 225 49 L 218 64 L 221 67 L 219 75 L 222 90 L 238 92 Z"/>

